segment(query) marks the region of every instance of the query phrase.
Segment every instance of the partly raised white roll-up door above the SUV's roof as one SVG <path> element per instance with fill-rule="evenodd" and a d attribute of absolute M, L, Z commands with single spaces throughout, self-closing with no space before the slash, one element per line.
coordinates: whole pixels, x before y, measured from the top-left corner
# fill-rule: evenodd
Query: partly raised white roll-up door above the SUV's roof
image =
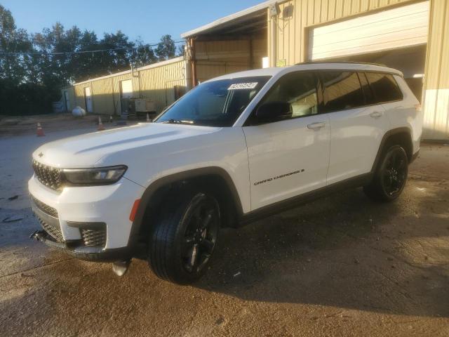
<path fill-rule="evenodd" d="M 429 1 L 310 29 L 309 60 L 427 43 Z"/>

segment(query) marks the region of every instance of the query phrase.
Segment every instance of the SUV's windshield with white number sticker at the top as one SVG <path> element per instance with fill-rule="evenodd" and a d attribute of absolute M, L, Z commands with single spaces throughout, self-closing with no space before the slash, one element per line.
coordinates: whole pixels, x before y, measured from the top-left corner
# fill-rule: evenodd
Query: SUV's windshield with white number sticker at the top
<path fill-rule="evenodd" d="M 232 126 L 269 78 L 239 77 L 203 83 L 185 94 L 154 122 Z"/>

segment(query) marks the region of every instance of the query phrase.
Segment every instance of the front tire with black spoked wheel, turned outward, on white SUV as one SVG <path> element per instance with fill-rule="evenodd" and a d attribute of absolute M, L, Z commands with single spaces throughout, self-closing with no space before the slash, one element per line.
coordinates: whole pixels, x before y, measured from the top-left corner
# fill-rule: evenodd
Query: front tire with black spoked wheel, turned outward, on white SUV
<path fill-rule="evenodd" d="M 208 269 L 220 230 L 220 207 L 213 196 L 199 191 L 166 202 L 150 237 L 149 265 L 161 279 L 189 284 Z"/>

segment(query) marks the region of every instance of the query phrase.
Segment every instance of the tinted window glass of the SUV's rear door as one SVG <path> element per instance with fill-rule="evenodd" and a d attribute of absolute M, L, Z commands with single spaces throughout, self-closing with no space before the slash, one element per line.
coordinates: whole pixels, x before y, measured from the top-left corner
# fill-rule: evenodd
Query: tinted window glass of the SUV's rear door
<path fill-rule="evenodd" d="M 333 112 L 365 105 L 363 91 L 356 72 L 322 72 L 323 110 Z"/>

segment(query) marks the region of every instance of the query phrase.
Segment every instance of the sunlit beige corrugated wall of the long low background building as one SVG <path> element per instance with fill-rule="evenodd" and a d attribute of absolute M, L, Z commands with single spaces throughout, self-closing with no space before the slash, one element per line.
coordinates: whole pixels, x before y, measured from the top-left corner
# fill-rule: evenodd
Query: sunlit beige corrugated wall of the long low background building
<path fill-rule="evenodd" d="M 84 88 L 91 87 L 93 112 L 98 114 L 120 114 L 120 81 L 132 79 L 133 97 L 149 98 L 156 103 L 160 112 L 175 101 L 174 86 L 185 86 L 185 60 L 159 62 L 147 67 L 121 72 L 116 75 L 100 77 L 74 84 L 74 102 L 86 109 Z"/>

